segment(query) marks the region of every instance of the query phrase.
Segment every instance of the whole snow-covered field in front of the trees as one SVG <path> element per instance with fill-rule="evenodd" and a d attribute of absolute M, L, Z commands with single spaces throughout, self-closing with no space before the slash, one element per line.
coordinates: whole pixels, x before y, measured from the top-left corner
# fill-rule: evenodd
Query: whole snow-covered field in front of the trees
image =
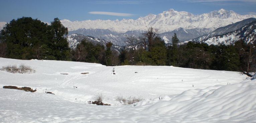
<path fill-rule="evenodd" d="M 0 67 L 20 64 L 36 72 L 0 70 L 3 123 L 256 122 L 256 80 L 239 72 L 0 58 Z M 37 91 L 2 88 L 5 85 Z M 88 104 L 97 94 L 111 106 Z M 123 105 L 116 100 L 120 96 L 143 100 Z"/>

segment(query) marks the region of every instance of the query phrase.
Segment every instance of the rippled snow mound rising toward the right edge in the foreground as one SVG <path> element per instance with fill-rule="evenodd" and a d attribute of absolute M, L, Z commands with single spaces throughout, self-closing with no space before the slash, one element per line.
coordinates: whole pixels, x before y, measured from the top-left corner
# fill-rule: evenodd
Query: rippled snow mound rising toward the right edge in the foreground
<path fill-rule="evenodd" d="M 256 80 L 215 87 L 219 86 L 187 90 L 167 101 L 137 106 L 168 115 L 172 122 L 256 122 Z"/>

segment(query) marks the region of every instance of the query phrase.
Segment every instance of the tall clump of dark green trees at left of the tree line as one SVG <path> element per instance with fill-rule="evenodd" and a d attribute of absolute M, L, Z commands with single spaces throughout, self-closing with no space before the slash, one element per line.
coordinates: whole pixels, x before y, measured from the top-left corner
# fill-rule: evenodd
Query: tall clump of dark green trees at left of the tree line
<path fill-rule="evenodd" d="M 68 60 L 68 29 L 55 18 L 51 25 L 31 17 L 12 20 L 1 31 L 1 57 L 12 59 Z"/>

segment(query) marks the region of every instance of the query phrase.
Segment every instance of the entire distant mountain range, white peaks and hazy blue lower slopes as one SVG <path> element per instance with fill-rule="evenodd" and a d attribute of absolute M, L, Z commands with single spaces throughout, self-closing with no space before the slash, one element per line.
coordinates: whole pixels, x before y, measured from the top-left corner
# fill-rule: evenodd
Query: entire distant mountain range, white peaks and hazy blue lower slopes
<path fill-rule="evenodd" d="M 149 27 L 158 29 L 159 36 L 165 43 L 171 43 L 171 37 L 177 34 L 180 42 L 207 35 L 219 27 L 242 21 L 256 15 L 240 15 L 234 11 L 220 9 L 210 13 L 194 15 L 188 12 L 178 12 L 173 9 L 158 15 L 149 14 L 137 20 L 61 20 L 68 27 L 69 34 L 93 36 L 112 42 L 118 46 L 127 46 L 127 36 L 140 37 Z"/>

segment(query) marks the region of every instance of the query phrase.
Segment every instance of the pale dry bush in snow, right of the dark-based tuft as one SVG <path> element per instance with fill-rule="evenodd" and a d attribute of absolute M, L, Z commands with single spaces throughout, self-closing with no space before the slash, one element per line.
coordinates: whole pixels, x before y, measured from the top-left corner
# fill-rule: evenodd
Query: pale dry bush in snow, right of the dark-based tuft
<path fill-rule="evenodd" d="M 123 103 L 124 105 L 130 105 L 135 102 L 139 102 L 142 100 L 142 97 L 135 97 L 135 96 L 129 96 L 127 98 L 124 98 L 122 95 L 119 95 L 116 97 L 116 100 L 120 103 Z"/>

